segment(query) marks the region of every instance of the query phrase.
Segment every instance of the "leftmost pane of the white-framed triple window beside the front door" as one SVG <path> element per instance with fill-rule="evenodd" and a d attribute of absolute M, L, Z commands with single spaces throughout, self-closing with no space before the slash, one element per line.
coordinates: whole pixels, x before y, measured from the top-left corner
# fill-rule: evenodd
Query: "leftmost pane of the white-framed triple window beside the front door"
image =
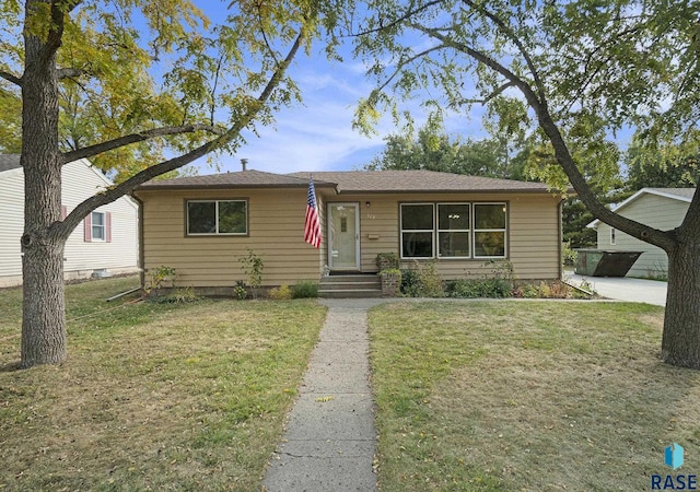
<path fill-rule="evenodd" d="M 434 258 L 435 206 L 401 204 L 401 258 Z"/>

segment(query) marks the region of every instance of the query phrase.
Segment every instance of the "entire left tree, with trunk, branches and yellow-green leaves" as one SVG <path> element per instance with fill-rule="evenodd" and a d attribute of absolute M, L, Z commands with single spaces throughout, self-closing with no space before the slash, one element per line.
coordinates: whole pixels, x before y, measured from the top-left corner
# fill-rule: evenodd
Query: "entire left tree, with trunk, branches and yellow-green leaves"
<path fill-rule="evenodd" d="M 324 7 L 223 2 L 212 23 L 190 0 L 0 0 L 0 122 L 25 179 L 22 367 L 66 359 L 63 247 L 75 226 L 149 179 L 235 149 L 243 129 L 298 99 L 287 70 L 332 23 Z M 119 183 L 63 219 L 61 167 L 83 157 Z"/>

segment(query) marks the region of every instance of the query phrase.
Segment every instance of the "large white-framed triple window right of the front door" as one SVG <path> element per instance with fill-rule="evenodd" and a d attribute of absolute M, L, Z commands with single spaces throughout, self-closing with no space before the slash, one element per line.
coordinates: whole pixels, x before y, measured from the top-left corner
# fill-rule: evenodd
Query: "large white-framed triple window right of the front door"
<path fill-rule="evenodd" d="M 401 258 L 505 258 L 505 202 L 400 204 Z"/>

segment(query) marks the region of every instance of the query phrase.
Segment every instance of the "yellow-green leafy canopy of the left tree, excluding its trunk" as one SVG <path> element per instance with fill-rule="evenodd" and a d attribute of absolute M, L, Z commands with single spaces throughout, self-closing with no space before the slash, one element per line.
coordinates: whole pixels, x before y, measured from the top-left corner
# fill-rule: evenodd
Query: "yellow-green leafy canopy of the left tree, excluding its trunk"
<path fill-rule="evenodd" d="M 20 2 L 2 0 L 0 151 L 21 150 L 22 33 L 48 36 L 57 10 L 63 12 L 56 49 L 59 149 L 68 159 L 90 154 L 122 181 L 223 134 L 258 106 L 300 26 L 306 47 L 318 32 L 318 12 L 310 5 L 211 2 L 205 12 L 190 0 L 34 1 L 23 25 Z M 256 109 L 256 121 L 269 122 L 299 98 L 293 81 L 282 78 Z M 217 151 L 238 143 L 236 137 Z"/>

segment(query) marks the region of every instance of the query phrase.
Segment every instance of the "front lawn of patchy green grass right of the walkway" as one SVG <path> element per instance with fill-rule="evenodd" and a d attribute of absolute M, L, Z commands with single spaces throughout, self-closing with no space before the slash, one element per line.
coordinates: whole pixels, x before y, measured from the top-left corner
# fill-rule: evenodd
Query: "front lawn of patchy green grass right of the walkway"
<path fill-rule="evenodd" d="M 663 308 L 389 304 L 370 314 L 382 491 L 650 490 L 700 471 L 700 373 L 658 360 Z"/>

